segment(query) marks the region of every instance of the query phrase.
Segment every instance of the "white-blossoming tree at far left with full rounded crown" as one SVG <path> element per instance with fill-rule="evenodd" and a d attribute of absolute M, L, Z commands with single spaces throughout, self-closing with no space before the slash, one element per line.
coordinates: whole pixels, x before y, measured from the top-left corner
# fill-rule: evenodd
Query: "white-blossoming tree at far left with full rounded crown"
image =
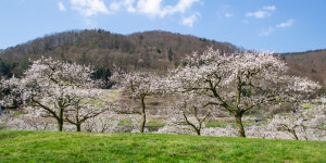
<path fill-rule="evenodd" d="M 91 78 L 92 72 L 91 66 L 41 58 L 33 62 L 24 78 L 9 82 L 14 89 L 5 97 L 13 99 L 16 97 L 12 95 L 20 95 L 23 103 L 29 105 L 25 108 L 27 112 L 55 118 L 58 130 L 62 131 L 67 109 L 76 101 L 93 97 L 90 91 L 82 93 L 99 86 L 100 82 Z"/>

